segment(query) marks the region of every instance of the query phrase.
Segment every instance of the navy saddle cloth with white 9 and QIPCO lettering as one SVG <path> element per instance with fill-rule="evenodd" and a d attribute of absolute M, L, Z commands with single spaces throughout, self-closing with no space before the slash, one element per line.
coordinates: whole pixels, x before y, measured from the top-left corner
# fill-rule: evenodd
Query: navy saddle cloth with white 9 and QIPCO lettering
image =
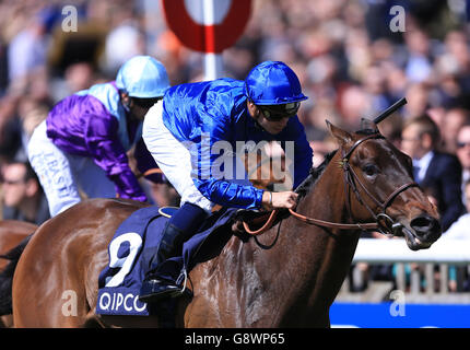
<path fill-rule="evenodd" d="M 236 209 L 224 208 L 210 215 L 197 234 L 185 242 L 183 256 L 168 259 L 158 269 L 176 280 L 201 261 L 220 254 L 232 236 Z M 152 315 L 151 305 L 139 301 L 139 291 L 151 266 L 168 218 L 157 207 L 134 211 L 117 229 L 108 246 L 109 264 L 99 273 L 96 313 L 103 315 Z"/>

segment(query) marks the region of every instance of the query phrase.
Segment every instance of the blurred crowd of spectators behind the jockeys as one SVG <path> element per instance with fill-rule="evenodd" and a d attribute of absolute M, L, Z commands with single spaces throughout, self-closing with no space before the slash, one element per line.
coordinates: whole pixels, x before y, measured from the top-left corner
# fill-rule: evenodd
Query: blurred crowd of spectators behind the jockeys
<path fill-rule="evenodd" d="M 78 15 L 75 28 L 67 5 Z M 404 11 L 390 12 L 396 5 Z M 432 149 L 458 158 L 461 166 L 461 212 L 448 229 L 466 213 L 463 184 L 470 178 L 469 13 L 469 0 L 252 0 L 244 35 L 223 52 L 224 75 L 245 79 L 263 60 L 292 67 L 309 96 L 298 116 L 315 165 L 337 147 L 325 119 L 357 130 L 362 117 L 373 118 L 407 97 L 408 104 L 379 129 L 402 148 L 402 132 L 411 119 L 427 117 L 435 124 Z M 403 24 L 398 31 L 397 21 Z M 114 80 L 118 68 L 139 54 L 161 60 L 172 84 L 203 79 L 203 55 L 185 48 L 167 28 L 160 1 L 0 1 L 3 197 L 20 192 L 11 187 L 30 180 L 28 164 L 16 178 L 9 166 L 27 163 L 25 145 L 50 107 L 94 83 Z M 167 184 L 145 186 L 155 202 L 174 202 Z M 27 197 L 22 200 L 31 202 Z M 21 200 L 5 205 L 3 198 L 2 203 L 24 207 Z M 45 220 L 32 214 L 13 218 Z"/>

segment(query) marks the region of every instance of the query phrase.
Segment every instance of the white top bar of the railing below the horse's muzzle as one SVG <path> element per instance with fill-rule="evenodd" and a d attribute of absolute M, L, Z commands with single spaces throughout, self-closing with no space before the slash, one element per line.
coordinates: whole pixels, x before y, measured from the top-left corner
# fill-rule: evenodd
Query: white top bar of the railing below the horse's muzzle
<path fill-rule="evenodd" d="M 470 237 L 470 231 L 469 231 Z M 439 238 L 430 248 L 413 252 L 403 238 L 379 240 L 361 238 L 353 262 L 436 262 L 465 265 L 470 264 L 470 240 Z"/>

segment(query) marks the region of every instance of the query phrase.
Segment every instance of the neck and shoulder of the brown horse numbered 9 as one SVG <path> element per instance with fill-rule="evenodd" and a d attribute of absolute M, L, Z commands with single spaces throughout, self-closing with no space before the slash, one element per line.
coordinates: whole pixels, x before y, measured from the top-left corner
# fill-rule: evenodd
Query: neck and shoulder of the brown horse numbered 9
<path fill-rule="evenodd" d="M 329 168 L 297 211 L 341 222 L 342 182 L 333 184 L 338 174 Z M 202 283 L 215 283 L 204 285 L 213 294 L 209 299 L 216 298 L 219 313 L 233 318 L 225 326 L 328 326 L 328 308 L 350 267 L 359 234 L 324 230 L 292 217 L 281 222 L 275 241 L 278 229 L 258 237 L 263 245 L 275 242 L 268 249 L 255 240 L 243 243 L 233 237 L 207 269 L 211 281 Z"/>

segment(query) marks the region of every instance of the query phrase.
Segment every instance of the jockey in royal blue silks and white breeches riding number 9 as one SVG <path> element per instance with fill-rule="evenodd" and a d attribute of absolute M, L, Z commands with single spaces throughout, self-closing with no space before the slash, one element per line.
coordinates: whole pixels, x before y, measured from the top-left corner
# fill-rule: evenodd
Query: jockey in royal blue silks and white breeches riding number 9
<path fill-rule="evenodd" d="M 168 220 L 154 253 L 139 296 L 142 302 L 181 294 L 183 288 L 158 276 L 157 267 L 181 254 L 183 243 L 197 233 L 215 203 L 245 209 L 295 208 L 294 191 L 270 192 L 255 188 L 245 177 L 234 178 L 234 172 L 226 176 L 224 171 L 231 166 L 221 166 L 220 149 L 228 144 L 235 150 L 237 141 L 277 140 L 281 145 L 293 141 L 296 187 L 312 167 L 313 151 L 296 116 L 306 98 L 291 68 L 266 61 L 245 81 L 224 78 L 173 86 L 163 104 L 149 110 L 143 140 L 181 196 L 181 205 Z"/>

